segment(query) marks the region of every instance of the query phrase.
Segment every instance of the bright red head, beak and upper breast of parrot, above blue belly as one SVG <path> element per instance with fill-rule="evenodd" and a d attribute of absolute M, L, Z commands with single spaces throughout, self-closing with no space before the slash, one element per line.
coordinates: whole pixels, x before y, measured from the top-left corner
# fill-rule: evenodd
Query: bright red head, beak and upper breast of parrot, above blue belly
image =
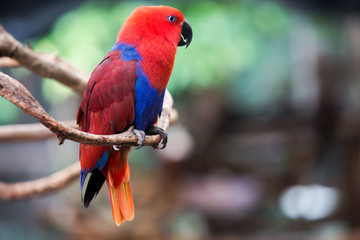
<path fill-rule="evenodd" d="M 191 39 L 190 24 L 179 10 L 168 6 L 142 6 L 123 24 L 117 42 L 134 46 L 144 62 L 160 63 L 156 66 L 142 64 L 142 68 L 152 86 L 162 90 L 170 78 L 177 46 L 188 46 Z"/>

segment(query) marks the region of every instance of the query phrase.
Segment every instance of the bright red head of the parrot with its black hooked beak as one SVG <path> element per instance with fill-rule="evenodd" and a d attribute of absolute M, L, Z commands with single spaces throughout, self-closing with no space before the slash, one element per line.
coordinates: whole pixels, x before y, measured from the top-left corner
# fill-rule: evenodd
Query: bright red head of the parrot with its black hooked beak
<path fill-rule="evenodd" d="M 192 39 L 192 29 L 184 15 L 175 8 L 141 6 L 130 14 L 122 26 L 118 41 L 139 43 L 143 39 L 188 47 Z"/>

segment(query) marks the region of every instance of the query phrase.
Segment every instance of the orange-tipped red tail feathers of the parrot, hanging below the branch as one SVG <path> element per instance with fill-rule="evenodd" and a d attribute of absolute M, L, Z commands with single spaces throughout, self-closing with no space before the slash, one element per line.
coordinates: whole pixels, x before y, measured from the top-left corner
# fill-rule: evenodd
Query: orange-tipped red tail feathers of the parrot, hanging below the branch
<path fill-rule="evenodd" d="M 119 151 L 112 151 L 107 168 L 106 183 L 109 189 L 114 221 L 117 226 L 134 218 L 134 202 L 130 188 L 130 168 L 127 162 L 129 152 L 130 147 L 121 147 Z"/>

